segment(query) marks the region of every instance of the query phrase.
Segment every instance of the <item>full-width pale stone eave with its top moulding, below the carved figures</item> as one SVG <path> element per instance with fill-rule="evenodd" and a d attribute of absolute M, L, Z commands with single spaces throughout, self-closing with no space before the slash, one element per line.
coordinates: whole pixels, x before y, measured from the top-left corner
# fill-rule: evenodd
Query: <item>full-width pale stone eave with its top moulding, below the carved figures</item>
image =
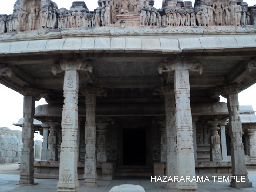
<path fill-rule="evenodd" d="M 209 43 L 210 42 L 210 43 Z M 173 53 L 256 50 L 256 28 L 41 29 L 0 35 L 0 55 L 40 52 Z"/>

